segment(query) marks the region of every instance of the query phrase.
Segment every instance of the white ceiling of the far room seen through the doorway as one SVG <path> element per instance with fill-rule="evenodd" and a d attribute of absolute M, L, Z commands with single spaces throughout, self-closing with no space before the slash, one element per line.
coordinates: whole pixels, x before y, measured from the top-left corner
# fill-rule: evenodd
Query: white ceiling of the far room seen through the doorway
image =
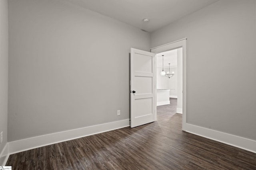
<path fill-rule="evenodd" d="M 158 67 L 163 67 L 162 55 L 164 55 L 164 68 L 169 68 L 169 63 L 170 68 L 177 67 L 177 49 L 156 54 L 156 66 Z"/>

